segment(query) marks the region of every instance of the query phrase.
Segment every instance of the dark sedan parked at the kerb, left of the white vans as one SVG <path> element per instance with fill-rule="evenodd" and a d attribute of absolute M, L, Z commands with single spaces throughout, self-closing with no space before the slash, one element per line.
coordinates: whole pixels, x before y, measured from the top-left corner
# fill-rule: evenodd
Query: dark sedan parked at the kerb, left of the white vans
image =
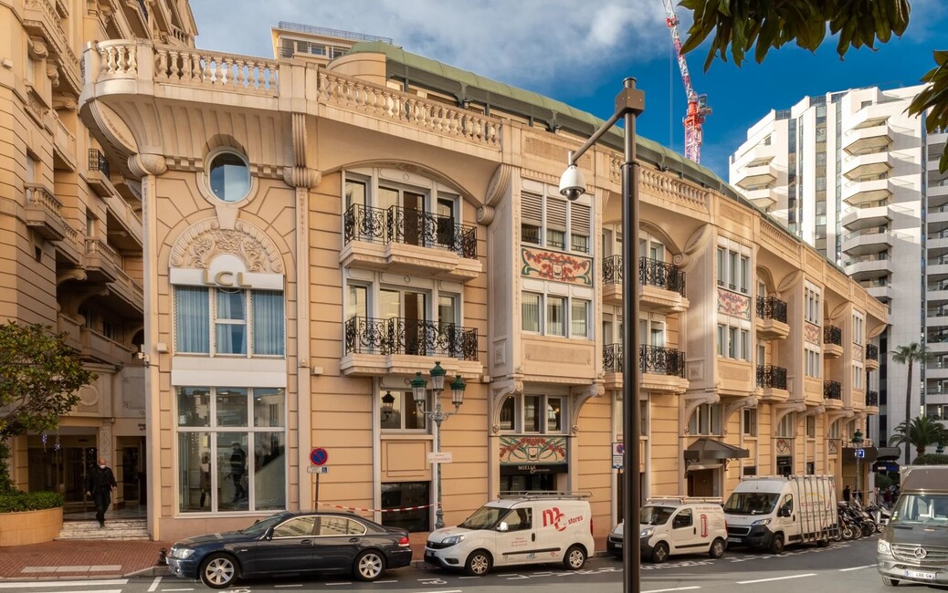
<path fill-rule="evenodd" d="M 239 578 L 352 574 L 374 581 L 408 566 L 407 530 L 347 512 L 278 512 L 243 531 L 212 533 L 172 546 L 172 573 L 223 589 Z"/>

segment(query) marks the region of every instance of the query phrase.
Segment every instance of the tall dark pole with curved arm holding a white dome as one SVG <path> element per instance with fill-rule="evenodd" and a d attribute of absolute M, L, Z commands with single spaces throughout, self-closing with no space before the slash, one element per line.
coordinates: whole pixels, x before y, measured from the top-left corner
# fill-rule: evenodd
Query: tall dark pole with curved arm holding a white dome
<path fill-rule="evenodd" d="M 635 79 L 623 81 L 623 89 L 615 97 L 615 113 L 596 130 L 579 149 L 569 154 L 567 168 L 559 178 L 559 192 L 570 200 L 586 191 L 582 172 L 576 160 L 609 129 L 623 119 L 626 129 L 625 154 L 622 162 L 622 438 L 625 456 L 622 461 L 622 485 L 625 500 L 622 519 L 625 524 L 622 546 L 624 593 L 635 593 L 641 583 L 642 562 L 639 556 L 639 165 L 635 161 L 635 118 L 645 111 L 645 93 L 635 88 Z"/>

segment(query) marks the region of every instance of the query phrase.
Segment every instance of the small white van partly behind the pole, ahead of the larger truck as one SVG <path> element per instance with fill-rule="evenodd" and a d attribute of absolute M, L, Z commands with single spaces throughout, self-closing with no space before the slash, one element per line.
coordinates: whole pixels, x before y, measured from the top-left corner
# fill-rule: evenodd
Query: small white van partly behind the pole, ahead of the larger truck
<path fill-rule="evenodd" d="M 727 548 L 727 523 L 720 498 L 676 496 L 651 499 L 640 511 L 642 556 L 661 563 L 675 554 L 707 552 L 720 558 Z M 622 557 L 623 524 L 615 526 L 606 549 Z"/>

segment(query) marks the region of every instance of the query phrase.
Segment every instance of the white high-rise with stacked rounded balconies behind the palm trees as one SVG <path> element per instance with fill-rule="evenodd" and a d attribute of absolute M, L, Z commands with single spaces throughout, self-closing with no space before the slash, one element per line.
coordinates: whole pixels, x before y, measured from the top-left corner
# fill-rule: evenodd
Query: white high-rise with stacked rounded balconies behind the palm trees
<path fill-rule="evenodd" d="M 906 108 L 923 86 L 865 88 L 772 111 L 730 159 L 730 182 L 889 307 L 875 337 L 884 443 L 905 419 L 907 367 L 891 350 L 925 343 L 935 357 L 912 376 L 911 417 L 948 419 L 948 174 L 946 135 L 926 134 Z M 825 312 L 832 315 L 832 312 Z"/>

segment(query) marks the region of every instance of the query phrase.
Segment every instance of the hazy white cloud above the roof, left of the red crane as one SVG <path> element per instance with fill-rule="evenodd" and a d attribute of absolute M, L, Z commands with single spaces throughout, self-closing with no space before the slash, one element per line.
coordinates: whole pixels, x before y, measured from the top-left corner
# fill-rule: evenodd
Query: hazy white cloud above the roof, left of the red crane
<path fill-rule="evenodd" d="M 667 55 L 657 0 L 603 6 L 575 0 L 192 0 L 202 48 L 272 56 L 270 27 L 291 21 L 382 37 L 485 77 L 544 91 L 590 81 L 617 63 Z"/>

